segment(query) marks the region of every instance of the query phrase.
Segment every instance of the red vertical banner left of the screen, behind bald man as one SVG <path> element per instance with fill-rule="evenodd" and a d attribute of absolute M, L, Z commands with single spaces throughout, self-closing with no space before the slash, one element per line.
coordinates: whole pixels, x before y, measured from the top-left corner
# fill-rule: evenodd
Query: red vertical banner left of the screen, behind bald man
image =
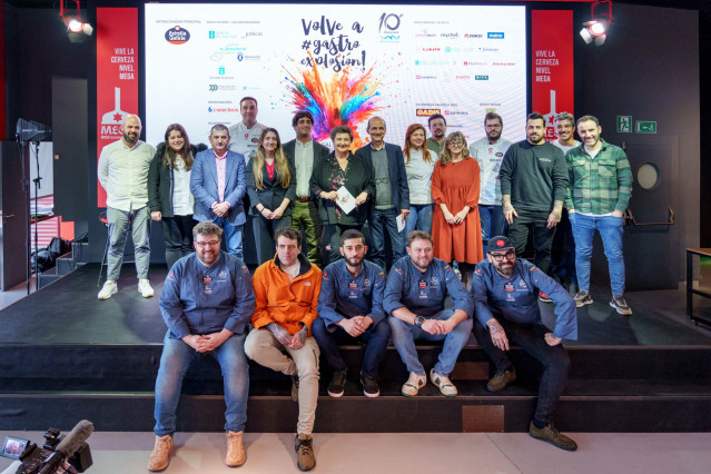
<path fill-rule="evenodd" d="M 121 138 L 128 113 L 138 113 L 138 9 L 97 8 L 97 159 Z M 97 186 L 105 207 L 106 190 Z"/>

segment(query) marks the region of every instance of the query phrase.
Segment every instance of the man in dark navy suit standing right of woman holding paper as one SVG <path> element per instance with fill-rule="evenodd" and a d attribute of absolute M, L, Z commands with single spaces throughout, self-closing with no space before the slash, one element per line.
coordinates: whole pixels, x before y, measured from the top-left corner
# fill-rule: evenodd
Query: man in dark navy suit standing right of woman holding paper
<path fill-rule="evenodd" d="M 368 226 L 371 229 L 371 259 L 385 269 L 385 230 L 391 238 L 393 263 L 405 256 L 405 235 L 397 231 L 397 217 L 403 220 L 409 214 L 409 187 L 405 174 L 403 150 L 386 144 L 385 120 L 373 117 L 367 131 L 371 142 L 356 151 L 373 171 L 375 199 L 371 206 Z"/>

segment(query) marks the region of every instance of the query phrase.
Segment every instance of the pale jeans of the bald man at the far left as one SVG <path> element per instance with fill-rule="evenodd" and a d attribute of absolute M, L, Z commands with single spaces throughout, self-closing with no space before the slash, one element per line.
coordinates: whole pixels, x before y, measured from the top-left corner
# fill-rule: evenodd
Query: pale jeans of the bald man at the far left
<path fill-rule="evenodd" d="M 134 240 L 134 256 L 136 259 L 136 274 L 138 278 L 148 278 L 148 265 L 150 264 L 150 210 L 148 206 L 131 211 L 119 210 L 112 207 L 106 208 L 106 218 L 109 224 L 109 251 L 107 256 L 107 279 L 117 280 L 121 273 L 124 261 L 124 248 L 128 235 L 129 223 L 131 225 L 131 239 Z"/>

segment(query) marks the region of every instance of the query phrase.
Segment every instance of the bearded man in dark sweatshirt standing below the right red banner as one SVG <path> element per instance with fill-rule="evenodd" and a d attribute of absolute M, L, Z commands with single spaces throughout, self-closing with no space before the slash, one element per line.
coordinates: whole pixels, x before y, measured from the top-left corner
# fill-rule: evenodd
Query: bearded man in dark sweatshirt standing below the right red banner
<path fill-rule="evenodd" d="M 532 230 L 533 263 L 547 274 L 551 244 L 563 211 L 567 166 L 563 152 L 545 140 L 545 119 L 541 113 L 529 115 L 526 139 L 508 148 L 498 177 L 508 238 L 516 253 L 523 254 Z M 540 296 L 550 302 L 545 293 Z"/>

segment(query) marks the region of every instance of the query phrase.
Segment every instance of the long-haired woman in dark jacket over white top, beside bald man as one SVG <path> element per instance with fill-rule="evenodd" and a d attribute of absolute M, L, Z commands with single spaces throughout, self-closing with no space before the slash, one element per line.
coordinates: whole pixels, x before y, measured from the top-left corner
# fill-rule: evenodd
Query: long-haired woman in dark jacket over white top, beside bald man
<path fill-rule="evenodd" d="M 190 192 L 190 168 L 195 155 L 205 149 L 203 144 L 190 145 L 180 124 L 171 124 L 148 170 L 150 218 L 161 223 L 168 268 L 194 251 L 192 227 L 197 221 L 192 219 L 195 199 Z"/>

